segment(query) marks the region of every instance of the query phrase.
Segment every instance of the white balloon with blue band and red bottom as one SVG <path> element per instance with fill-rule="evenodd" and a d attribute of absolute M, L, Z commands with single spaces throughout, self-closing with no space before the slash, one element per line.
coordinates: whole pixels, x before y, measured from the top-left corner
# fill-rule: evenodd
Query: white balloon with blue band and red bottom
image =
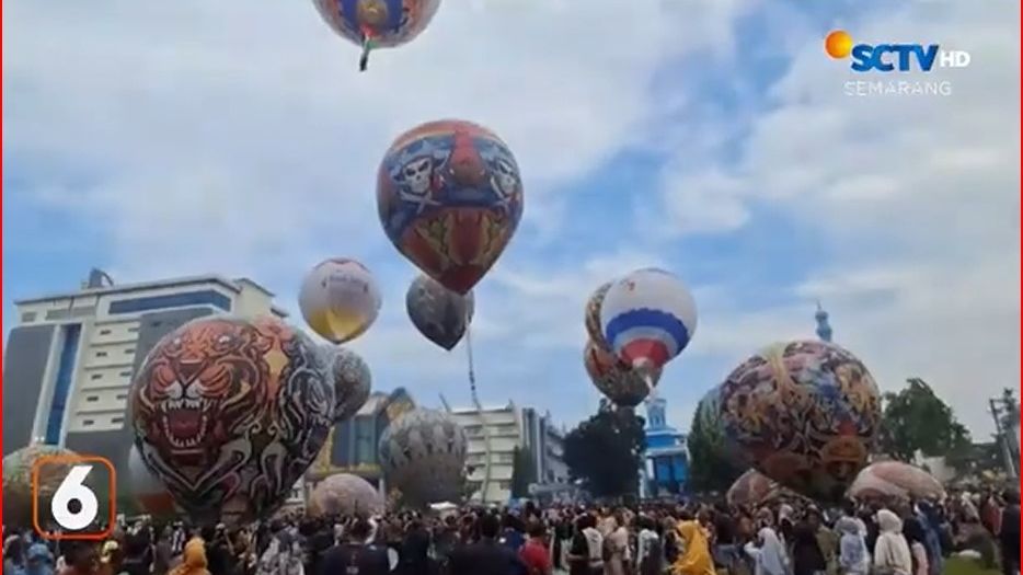
<path fill-rule="evenodd" d="M 697 330 L 697 304 L 675 275 L 640 269 L 608 289 L 600 324 L 618 357 L 650 371 L 664 367 L 689 345 Z"/>

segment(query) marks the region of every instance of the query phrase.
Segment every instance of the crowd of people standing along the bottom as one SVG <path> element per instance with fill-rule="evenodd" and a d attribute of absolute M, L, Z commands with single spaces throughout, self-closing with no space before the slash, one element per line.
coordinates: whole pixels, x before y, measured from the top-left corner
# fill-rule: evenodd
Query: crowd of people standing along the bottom
<path fill-rule="evenodd" d="M 4 527 L 3 575 L 940 575 L 962 554 L 1020 573 L 1020 496 L 464 507 L 283 515 L 248 528 L 122 526 L 99 544 Z"/>

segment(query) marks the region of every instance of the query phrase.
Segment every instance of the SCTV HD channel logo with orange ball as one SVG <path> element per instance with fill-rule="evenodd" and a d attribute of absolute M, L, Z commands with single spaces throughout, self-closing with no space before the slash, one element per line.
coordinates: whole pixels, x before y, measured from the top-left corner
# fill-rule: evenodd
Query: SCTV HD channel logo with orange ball
<path fill-rule="evenodd" d="M 940 68 L 966 68 L 969 53 L 942 49 L 939 44 L 857 44 L 843 30 L 836 30 L 824 41 L 824 50 L 835 59 L 851 57 L 854 72 L 930 72 Z"/>

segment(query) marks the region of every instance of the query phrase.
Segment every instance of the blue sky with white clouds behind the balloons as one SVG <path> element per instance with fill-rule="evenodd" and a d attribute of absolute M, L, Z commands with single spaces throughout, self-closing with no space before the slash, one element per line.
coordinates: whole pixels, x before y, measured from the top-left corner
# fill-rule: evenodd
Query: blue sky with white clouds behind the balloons
<path fill-rule="evenodd" d="M 467 404 L 464 350 L 404 317 L 415 272 L 372 187 L 394 136 L 462 117 L 509 143 L 526 184 L 476 292 L 485 403 L 590 413 L 583 303 L 658 264 L 700 314 L 660 384 L 677 425 L 757 348 L 813 336 L 819 298 L 882 388 L 924 377 L 986 436 L 979 391 L 1020 380 L 1019 3 L 571 5 L 448 0 L 359 74 L 311 3 L 4 2 L 4 333 L 14 299 L 94 265 L 246 275 L 297 311 L 304 271 L 352 256 L 384 294 L 353 345 L 376 389 Z M 900 78 L 951 96 L 851 97 L 859 78 L 821 48 L 839 26 L 973 64 Z"/>

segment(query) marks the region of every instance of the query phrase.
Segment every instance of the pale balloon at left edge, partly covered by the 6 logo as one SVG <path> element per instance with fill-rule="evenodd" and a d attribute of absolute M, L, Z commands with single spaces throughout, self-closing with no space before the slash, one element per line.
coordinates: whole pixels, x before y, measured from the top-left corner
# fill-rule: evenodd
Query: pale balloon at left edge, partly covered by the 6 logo
<path fill-rule="evenodd" d="M 74 457 L 71 450 L 55 445 L 32 444 L 3 458 L 3 521 L 7 525 L 32 525 L 32 469 L 41 458 Z M 46 464 L 39 468 L 39 493 L 53 495 L 70 471 L 70 465 Z"/>

